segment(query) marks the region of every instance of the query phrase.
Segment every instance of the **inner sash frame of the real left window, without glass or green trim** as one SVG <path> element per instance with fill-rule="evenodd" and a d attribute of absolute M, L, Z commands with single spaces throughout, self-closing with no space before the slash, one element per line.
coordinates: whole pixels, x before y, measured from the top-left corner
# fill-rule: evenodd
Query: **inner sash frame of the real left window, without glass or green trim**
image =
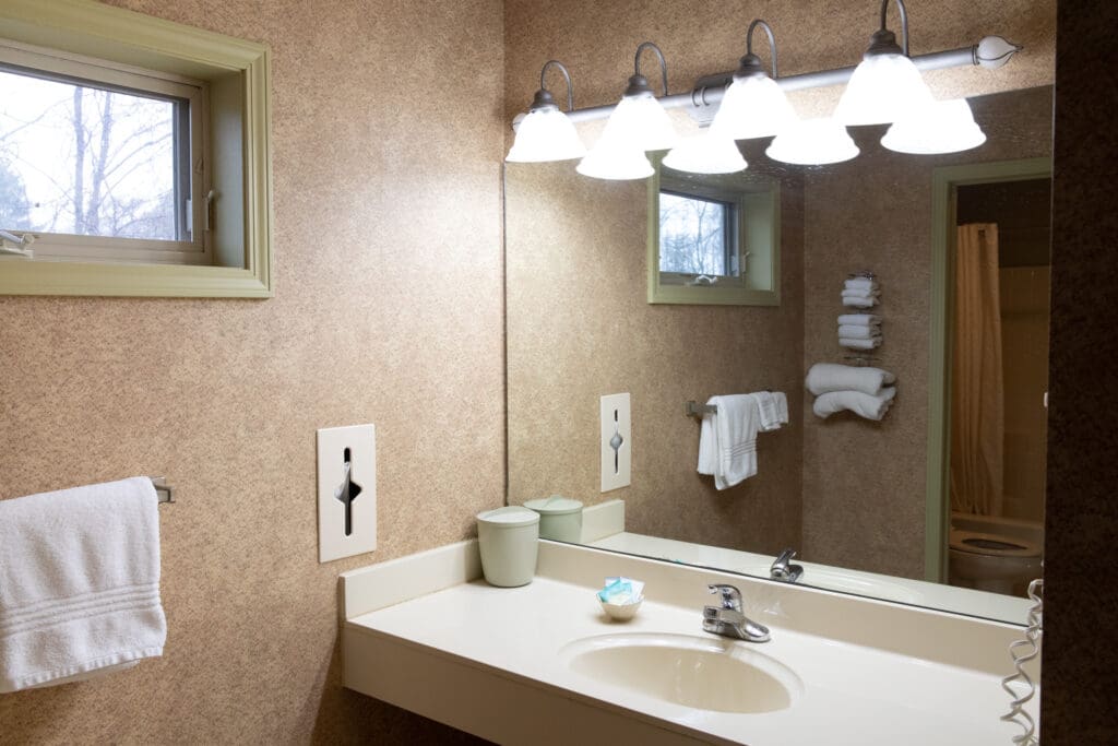
<path fill-rule="evenodd" d="M 0 38 L 0 72 L 57 81 L 86 88 L 119 92 L 129 95 L 148 95 L 159 100 L 184 101 L 189 113 L 189 141 L 186 155 L 174 142 L 176 191 L 181 183 L 184 169 L 189 181 L 191 239 L 157 240 L 129 238 L 124 236 L 88 236 L 68 233 L 23 230 L 2 226 L 10 233 L 32 234 L 34 252 L 38 258 L 87 262 L 148 262 L 168 264 L 214 263 L 212 242 L 205 229 L 203 206 L 210 188 L 208 104 L 209 86 L 203 81 L 187 78 L 168 73 L 136 68 L 84 55 L 67 54 L 19 44 Z M 176 108 L 174 115 L 179 116 Z M 178 199 L 177 199 L 178 201 Z M 180 206 L 176 205 L 176 218 L 180 217 Z M 177 226 L 177 229 L 181 226 Z"/>

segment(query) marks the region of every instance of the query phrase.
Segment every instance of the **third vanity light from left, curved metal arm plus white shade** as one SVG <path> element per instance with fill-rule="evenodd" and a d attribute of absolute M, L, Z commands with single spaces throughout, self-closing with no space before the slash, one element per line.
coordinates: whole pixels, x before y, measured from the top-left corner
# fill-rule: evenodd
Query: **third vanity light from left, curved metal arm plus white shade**
<path fill-rule="evenodd" d="M 754 54 L 754 29 L 765 29 L 773 58 L 773 77 L 765 74 L 760 57 Z M 776 84 L 776 39 L 773 28 L 756 19 L 746 32 L 746 56 L 741 58 L 733 83 L 722 95 L 722 103 L 714 114 L 712 132 L 729 135 L 732 140 L 769 138 L 779 134 L 796 121 L 796 112 Z"/>

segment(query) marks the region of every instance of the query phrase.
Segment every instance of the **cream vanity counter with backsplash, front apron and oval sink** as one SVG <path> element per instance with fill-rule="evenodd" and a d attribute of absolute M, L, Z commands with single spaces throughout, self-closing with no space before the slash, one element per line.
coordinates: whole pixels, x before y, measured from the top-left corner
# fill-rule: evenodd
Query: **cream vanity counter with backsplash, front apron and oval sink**
<path fill-rule="evenodd" d="M 595 598 L 612 575 L 646 583 L 631 622 Z M 702 631 L 716 583 L 740 589 L 770 642 Z M 1012 625 L 551 541 L 519 588 L 481 579 L 474 541 L 341 584 L 345 686 L 498 743 L 977 745 L 1020 733 L 999 719 Z"/>

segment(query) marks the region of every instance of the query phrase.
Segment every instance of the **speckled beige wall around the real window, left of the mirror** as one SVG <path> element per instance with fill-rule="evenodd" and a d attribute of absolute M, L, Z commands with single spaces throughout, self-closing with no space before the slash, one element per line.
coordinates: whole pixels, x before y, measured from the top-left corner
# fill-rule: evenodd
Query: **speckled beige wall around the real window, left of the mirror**
<path fill-rule="evenodd" d="M 120 4 L 271 45 L 276 296 L 0 298 L 0 498 L 180 495 L 164 657 L 0 697 L 0 743 L 457 738 L 341 688 L 334 598 L 503 500 L 501 2 Z M 364 422 L 379 548 L 319 565 L 314 431 Z"/>

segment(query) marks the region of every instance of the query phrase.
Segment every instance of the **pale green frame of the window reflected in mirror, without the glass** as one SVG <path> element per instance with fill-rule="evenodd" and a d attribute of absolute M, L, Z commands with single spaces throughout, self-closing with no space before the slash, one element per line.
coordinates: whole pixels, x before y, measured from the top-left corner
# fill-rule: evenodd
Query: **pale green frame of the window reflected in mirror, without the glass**
<path fill-rule="evenodd" d="M 665 169 L 664 153 L 650 154 L 655 171 L 648 178 L 647 302 L 685 305 L 780 304 L 780 182 L 756 173 L 699 177 Z M 660 271 L 660 192 L 694 195 L 737 206 L 737 277 L 712 284 L 684 284 L 680 273 Z"/>

